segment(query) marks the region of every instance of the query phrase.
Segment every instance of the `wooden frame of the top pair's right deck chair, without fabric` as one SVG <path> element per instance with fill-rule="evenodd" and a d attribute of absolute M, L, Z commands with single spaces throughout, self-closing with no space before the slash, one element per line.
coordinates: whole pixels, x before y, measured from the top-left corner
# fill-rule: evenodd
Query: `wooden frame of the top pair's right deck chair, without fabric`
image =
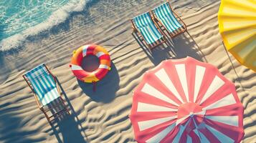
<path fill-rule="evenodd" d="M 170 2 L 167 0 L 166 1 L 166 3 L 168 3 L 168 5 L 169 5 L 169 7 L 170 7 L 170 9 L 171 9 L 171 4 L 170 4 Z M 173 9 L 171 9 L 171 11 L 172 11 L 172 13 L 174 14 L 174 16 L 175 16 L 175 18 L 181 23 L 181 31 L 178 31 L 178 33 L 174 33 L 174 32 L 170 32 L 168 29 L 166 29 L 166 26 L 164 26 L 163 25 L 163 23 L 157 18 L 157 16 L 156 16 L 156 14 L 153 12 L 153 10 L 151 10 L 151 13 L 152 13 L 152 15 L 153 15 L 153 20 L 155 21 L 155 23 L 158 25 L 158 27 L 163 27 L 166 31 L 167 31 L 167 33 L 169 34 L 169 36 L 171 37 L 171 38 L 174 38 L 175 36 L 178 36 L 179 34 L 181 34 L 181 33 L 184 33 L 184 32 L 186 32 L 187 31 L 187 29 L 186 29 L 186 24 L 184 23 L 184 21 L 178 16 L 178 14 L 176 14 L 176 12 L 173 10 Z M 161 31 L 165 34 L 165 32 L 161 29 Z M 177 30 L 176 30 L 177 31 Z M 165 34 L 166 35 L 166 34 Z M 166 35 L 167 36 L 167 35 Z"/>

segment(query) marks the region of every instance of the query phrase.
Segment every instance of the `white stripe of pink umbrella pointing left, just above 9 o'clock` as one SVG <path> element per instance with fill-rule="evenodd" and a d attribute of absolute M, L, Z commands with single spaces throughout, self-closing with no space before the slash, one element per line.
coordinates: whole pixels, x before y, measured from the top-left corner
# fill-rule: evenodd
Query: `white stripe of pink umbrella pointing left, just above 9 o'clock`
<path fill-rule="evenodd" d="M 138 102 L 137 112 L 177 112 L 177 109 Z"/>

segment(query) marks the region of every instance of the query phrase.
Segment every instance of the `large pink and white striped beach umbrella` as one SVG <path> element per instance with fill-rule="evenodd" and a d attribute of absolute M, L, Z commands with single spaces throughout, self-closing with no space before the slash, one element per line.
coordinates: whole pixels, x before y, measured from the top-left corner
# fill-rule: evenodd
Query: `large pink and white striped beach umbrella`
<path fill-rule="evenodd" d="M 232 82 L 187 57 L 144 74 L 130 118 L 137 142 L 240 142 L 243 112 Z"/>

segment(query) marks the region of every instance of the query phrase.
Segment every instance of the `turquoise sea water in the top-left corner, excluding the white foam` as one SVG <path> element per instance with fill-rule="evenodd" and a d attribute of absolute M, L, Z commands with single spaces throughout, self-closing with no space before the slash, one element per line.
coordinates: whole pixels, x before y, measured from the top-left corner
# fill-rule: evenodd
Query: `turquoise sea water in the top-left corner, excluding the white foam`
<path fill-rule="evenodd" d="M 67 2 L 68 0 L 1 0 L 0 40 L 41 23 Z"/>

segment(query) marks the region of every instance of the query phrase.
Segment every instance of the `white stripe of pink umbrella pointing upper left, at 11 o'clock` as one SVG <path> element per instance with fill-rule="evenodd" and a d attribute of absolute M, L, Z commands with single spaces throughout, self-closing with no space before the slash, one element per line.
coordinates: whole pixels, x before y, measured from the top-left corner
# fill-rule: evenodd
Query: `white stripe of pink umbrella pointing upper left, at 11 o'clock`
<path fill-rule="evenodd" d="M 174 87 L 174 84 L 171 82 L 171 79 L 167 75 L 165 69 L 160 69 L 156 71 L 155 75 L 175 95 L 175 97 L 179 99 L 181 103 L 184 103 L 183 100 L 181 99 L 181 96 L 177 92 L 177 89 Z"/>

